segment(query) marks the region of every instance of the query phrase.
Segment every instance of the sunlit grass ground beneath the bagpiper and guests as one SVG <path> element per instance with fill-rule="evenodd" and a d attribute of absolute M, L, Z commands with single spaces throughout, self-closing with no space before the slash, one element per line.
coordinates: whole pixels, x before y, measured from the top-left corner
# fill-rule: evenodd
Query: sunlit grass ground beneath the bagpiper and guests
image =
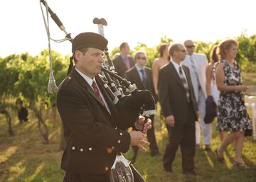
<path fill-rule="evenodd" d="M 6 121 L 0 115 L 0 182 L 60 182 L 64 172 L 60 169 L 62 152 L 58 150 L 60 127 L 54 127 L 51 120 L 47 120 L 50 130 L 49 144 L 44 144 L 39 135 L 36 119 L 29 113 L 29 123 L 18 124 L 16 113 L 11 113 L 13 119 L 14 137 L 6 132 Z M 60 124 L 60 123 L 59 123 Z M 156 115 L 156 137 L 161 154 L 167 142 L 167 131 Z M 213 123 L 212 149 L 220 144 L 218 132 Z M 132 159 L 132 149 L 125 154 Z M 149 152 L 139 153 L 135 167 L 147 182 L 175 181 L 175 182 L 255 182 L 256 181 L 256 142 L 247 137 L 243 149 L 243 159 L 248 169 L 233 167 L 235 153 L 233 147 L 225 152 L 227 164 L 218 162 L 214 152 L 196 149 L 195 165 L 198 176 L 185 176 L 181 169 L 181 152 L 178 150 L 174 161 L 172 174 L 163 171 L 161 157 L 151 157 Z"/>

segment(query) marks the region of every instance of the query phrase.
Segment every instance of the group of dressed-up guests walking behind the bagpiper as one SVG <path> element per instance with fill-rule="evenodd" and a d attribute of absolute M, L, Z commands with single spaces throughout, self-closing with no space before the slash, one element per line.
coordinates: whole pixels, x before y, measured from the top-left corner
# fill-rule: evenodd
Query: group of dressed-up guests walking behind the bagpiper
<path fill-rule="evenodd" d="M 172 163 L 178 146 L 181 147 L 184 174 L 196 175 L 194 171 L 195 148 L 210 151 L 212 124 L 205 122 L 206 102 L 213 101 L 218 113 L 217 130 L 220 132 L 220 146 L 215 149 L 218 161 L 225 163 L 223 152 L 230 143 L 234 143 L 234 166 L 244 167 L 242 146 L 245 130 L 251 130 L 242 91 L 241 71 L 235 57 L 238 42 L 223 40 L 214 45 L 210 52 L 210 62 L 206 55 L 195 52 L 192 40 L 181 43 L 162 44 L 159 57 L 146 67 L 147 57 L 143 51 L 129 56 L 129 45 L 120 45 L 120 55 L 113 59 L 115 70 L 138 89 L 148 89 L 155 101 L 161 104 L 161 112 L 166 121 L 169 142 L 163 155 L 163 166 L 172 171 Z M 154 135 L 154 117 L 152 128 L 148 130 L 151 156 L 160 155 Z M 213 119 L 212 119 L 213 120 Z M 225 131 L 230 135 L 225 137 Z M 201 147 L 201 133 L 204 147 Z"/>

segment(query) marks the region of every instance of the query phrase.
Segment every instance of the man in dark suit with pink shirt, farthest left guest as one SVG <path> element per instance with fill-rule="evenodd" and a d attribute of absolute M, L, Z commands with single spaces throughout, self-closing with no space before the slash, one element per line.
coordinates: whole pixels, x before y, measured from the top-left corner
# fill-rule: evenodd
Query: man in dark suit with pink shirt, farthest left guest
<path fill-rule="evenodd" d="M 122 42 L 120 45 L 120 55 L 113 59 L 114 69 L 117 74 L 124 78 L 124 73 L 127 69 L 134 66 L 134 60 L 129 56 L 129 45 L 127 42 Z"/>

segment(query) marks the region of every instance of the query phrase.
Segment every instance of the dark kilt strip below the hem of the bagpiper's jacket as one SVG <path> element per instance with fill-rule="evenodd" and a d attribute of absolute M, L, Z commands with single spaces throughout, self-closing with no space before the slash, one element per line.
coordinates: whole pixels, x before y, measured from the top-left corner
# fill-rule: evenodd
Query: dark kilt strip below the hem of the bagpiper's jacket
<path fill-rule="evenodd" d="M 63 182 L 110 182 L 108 174 L 102 175 L 81 175 L 65 172 Z"/>

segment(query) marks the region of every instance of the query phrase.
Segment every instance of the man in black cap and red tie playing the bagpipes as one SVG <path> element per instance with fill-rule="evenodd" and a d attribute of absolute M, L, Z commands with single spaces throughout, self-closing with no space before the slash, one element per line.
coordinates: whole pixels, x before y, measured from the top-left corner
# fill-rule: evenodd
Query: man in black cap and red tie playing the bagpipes
<path fill-rule="evenodd" d="M 72 42 L 75 66 L 58 89 L 57 107 L 66 142 L 61 161 L 65 182 L 109 181 L 117 152 L 127 152 L 130 144 L 143 150 L 143 145 L 149 144 L 142 132 L 125 130 L 134 123 L 142 129 L 144 118 L 120 120 L 116 106 L 100 84 L 105 47 L 107 40 L 101 35 L 77 35 Z M 144 131 L 151 128 L 151 121 L 145 126 Z"/>

